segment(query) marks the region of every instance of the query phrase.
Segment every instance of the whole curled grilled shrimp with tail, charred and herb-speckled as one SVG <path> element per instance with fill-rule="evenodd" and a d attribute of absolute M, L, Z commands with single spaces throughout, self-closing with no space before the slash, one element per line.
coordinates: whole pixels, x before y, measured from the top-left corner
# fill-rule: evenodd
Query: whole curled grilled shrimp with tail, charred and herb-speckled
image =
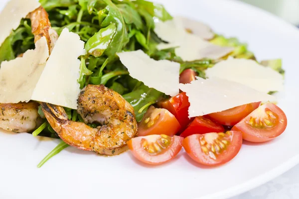
<path fill-rule="evenodd" d="M 88 85 L 78 99 L 78 113 L 86 123 L 98 122 L 97 128 L 69 120 L 60 106 L 41 105 L 59 137 L 79 149 L 118 155 L 128 149 L 127 141 L 135 137 L 138 130 L 132 105 L 103 85 Z"/>

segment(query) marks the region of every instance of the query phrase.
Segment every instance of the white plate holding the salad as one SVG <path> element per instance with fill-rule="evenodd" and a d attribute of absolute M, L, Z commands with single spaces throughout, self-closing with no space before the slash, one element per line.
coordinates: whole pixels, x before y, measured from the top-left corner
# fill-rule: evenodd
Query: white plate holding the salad
<path fill-rule="evenodd" d="M 257 187 L 299 163 L 297 28 L 237 1 L 162 2 L 172 14 L 202 20 L 218 33 L 248 42 L 259 60 L 283 58 L 286 90 L 278 98 L 288 116 L 286 132 L 269 143 L 243 145 L 235 159 L 216 168 L 194 164 L 183 151 L 168 164 L 149 167 L 139 164 L 129 152 L 108 158 L 69 147 L 40 169 L 36 165 L 57 140 L 0 133 L 1 199 L 224 199 Z"/>

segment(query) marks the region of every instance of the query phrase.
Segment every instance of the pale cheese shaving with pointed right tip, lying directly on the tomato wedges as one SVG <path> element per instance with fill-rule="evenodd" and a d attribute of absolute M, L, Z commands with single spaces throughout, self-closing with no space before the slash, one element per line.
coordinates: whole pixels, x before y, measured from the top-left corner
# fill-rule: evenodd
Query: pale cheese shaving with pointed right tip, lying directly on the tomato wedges
<path fill-rule="evenodd" d="M 198 78 L 191 84 L 180 84 L 179 88 L 186 92 L 189 98 L 189 117 L 219 112 L 252 102 L 275 100 L 274 96 L 219 78 Z"/>

